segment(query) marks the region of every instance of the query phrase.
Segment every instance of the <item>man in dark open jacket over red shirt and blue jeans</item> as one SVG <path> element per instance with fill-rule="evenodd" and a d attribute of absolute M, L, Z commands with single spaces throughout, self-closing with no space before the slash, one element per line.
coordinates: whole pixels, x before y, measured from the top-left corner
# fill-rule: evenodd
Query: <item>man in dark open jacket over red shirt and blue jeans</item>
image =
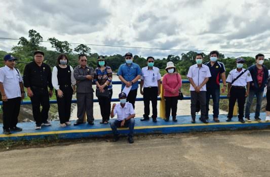
<path fill-rule="evenodd" d="M 263 98 L 263 90 L 264 87 L 267 85 L 267 79 L 268 79 L 268 69 L 265 65 L 263 65 L 264 62 L 264 55 L 263 54 L 257 54 L 255 56 L 256 64 L 250 66 L 248 68 L 252 81 L 250 82 L 250 92 L 247 97 L 247 104 L 245 109 L 245 118 L 246 121 L 251 122 L 250 119 L 250 106 L 252 104 L 254 96 L 256 96 L 256 110 L 255 110 L 255 121 L 261 122 L 260 116 L 260 108 L 261 108 L 261 102 Z"/>

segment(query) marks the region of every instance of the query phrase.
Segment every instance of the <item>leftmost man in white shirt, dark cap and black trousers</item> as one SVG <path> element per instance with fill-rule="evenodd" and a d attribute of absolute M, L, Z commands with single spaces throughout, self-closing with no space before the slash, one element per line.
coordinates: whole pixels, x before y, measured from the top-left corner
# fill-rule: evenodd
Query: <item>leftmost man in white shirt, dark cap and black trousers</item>
<path fill-rule="evenodd" d="M 11 131 L 21 131 L 17 127 L 21 100 L 24 99 L 22 76 L 15 68 L 15 59 L 12 55 L 4 57 L 5 66 L 0 68 L 0 92 L 3 101 L 3 134 Z"/>

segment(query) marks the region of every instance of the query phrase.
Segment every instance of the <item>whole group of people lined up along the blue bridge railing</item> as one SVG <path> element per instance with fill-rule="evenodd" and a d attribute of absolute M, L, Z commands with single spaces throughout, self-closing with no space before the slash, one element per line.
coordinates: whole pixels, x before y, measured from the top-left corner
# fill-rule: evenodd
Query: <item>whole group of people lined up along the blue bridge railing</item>
<path fill-rule="evenodd" d="M 219 122 L 219 96 L 220 96 L 220 79 L 223 86 L 221 92 L 228 89 L 229 110 L 226 121 L 231 121 L 233 109 L 236 100 L 239 106 L 239 121 L 244 120 L 244 104 L 247 97 L 245 118 L 250 119 L 250 105 L 254 98 L 257 98 L 255 120 L 259 118 L 263 89 L 268 83 L 268 70 L 263 65 L 264 56 L 256 55 L 256 64 L 243 68 L 245 62 L 243 58 L 236 59 L 236 69 L 225 76 L 225 66 L 218 61 L 219 53 L 212 51 L 210 61 L 203 64 L 203 55 L 197 54 L 196 64 L 190 66 L 187 77 L 190 81 L 191 97 L 191 122 L 196 122 L 196 112 L 198 106 L 201 110 L 200 120 L 208 123 L 209 100 L 213 99 L 213 120 Z M 3 133 L 11 134 L 11 131 L 21 131 L 17 127 L 18 115 L 20 111 L 20 102 L 24 99 L 24 87 L 27 95 L 31 99 L 33 118 L 35 120 L 35 129 L 41 129 L 43 125 L 49 126 L 48 112 L 50 109 L 49 98 L 53 95 L 53 89 L 57 98 L 58 113 L 60 126 L 71 125 L 69 122 L 72 95 L 76 93 L 78 119 L 73 125 L 79 125 L 84 122 L 84 116 L 87 116 L 87 122 L 94 124 L 93 116 L 93 97 L 94 92 L 98 98 L 102 120 L 100 123 L 110 123 L 113 131 L 113 141 L 118 141 L 118 127 L 129 127 L 128 141 L 133 143 L 133 129 L 135 124 L 135 100 L 139 88 L 143 95 L 144 114 L 141 121 L 148 121 L 150 115 L 150 101 L 152 105 L 152 121 L 157 122 L 158 110 L 157 101 L 161 93 L 161 82 L 164 89 L 165 99 L 165 121 L 169 121 L 170 115 L 174 122 L 176 119 L 177 103 L 181 90 L 181 75 L 177 73 L 173 62 L 168 62 L 165 70 L 167 73 L 161 77 L 160 69 L 154 66 L 155 59 L 147 57 L 147 66 L 142 69 L 133 62 L 131 53 L 125 54 L 126 62 L 118 69 L 118 77 L 122 81 L 122 91 L 129 88 L 129 92 L 119 94 L 118 104 L 111 106 L 112 96 L 112 69 L 107 66 L 104 56 L 97 58 L 97 67 L 94 69 L 87 65 L 87 56 L 79 55 L 79 66 L 74 69 L 68 65 L 68 57 L 61 54 L 57 58 L 57 65 L 51 68 L 44 63 L 44 52 L 35 51 L 34 61 L 26 64 L 23 77 L 20 71 L 15 68 L 17 59 L 12 55 L 4 57 L 5 67 L 0 68 L 0 92 L 3 100 Z M 161 81 L 162 80 L 162 81 Z M 92 84 L 96 84 L 96 91 L 93 90 Z M 226 84 L 228 83 L 228 85 Z M 268 84 L 267 99 L 270 99 L 270 84 Z M 48 91 L 49 87 L 49 91 Z M 268 103 L 268 102 L 267 102 Z M 40 108 L 42 106 L 42 109 Z M 109 121 L 117 114 L 117 119 Z M 270 120 L 270 100 L 266 106 L 266 121 Z"/>

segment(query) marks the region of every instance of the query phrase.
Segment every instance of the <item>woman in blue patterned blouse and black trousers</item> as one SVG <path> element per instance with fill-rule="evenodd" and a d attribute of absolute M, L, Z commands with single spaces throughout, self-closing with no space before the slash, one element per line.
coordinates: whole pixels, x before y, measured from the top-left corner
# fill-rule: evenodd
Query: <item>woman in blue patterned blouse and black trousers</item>
<path fill-rule="evenodd" d="M 112 96 L 112 70 L 107 66 L 104 56 L 99 56 L 97 59 L 97 68 L 95 69 L 94 81 L 99 92 L 109 92 L 109 97 L 98 97 L 102 121 L 100 123 L 107 124 L 110 116 L 110 101 Z"/>

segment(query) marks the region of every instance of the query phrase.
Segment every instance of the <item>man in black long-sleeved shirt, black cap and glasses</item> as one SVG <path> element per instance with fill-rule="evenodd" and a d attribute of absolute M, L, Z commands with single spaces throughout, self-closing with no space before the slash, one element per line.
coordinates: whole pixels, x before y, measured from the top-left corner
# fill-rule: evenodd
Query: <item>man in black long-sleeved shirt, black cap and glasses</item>
<path fill-rule="evenodd" d="M 25 65 L 23 72 L 24 86 L 32 103 L 35 129 L 41 129 L 42 125 L 51 125 L 48 121 L 48 113 L 50 109 L 49 97 L 53 95 L 52 72 L 50 66 L 43 61 L 44 52 L 35 51 L 34 61 Z M 48 87 L 50 88 L 49 92 Z"/>

